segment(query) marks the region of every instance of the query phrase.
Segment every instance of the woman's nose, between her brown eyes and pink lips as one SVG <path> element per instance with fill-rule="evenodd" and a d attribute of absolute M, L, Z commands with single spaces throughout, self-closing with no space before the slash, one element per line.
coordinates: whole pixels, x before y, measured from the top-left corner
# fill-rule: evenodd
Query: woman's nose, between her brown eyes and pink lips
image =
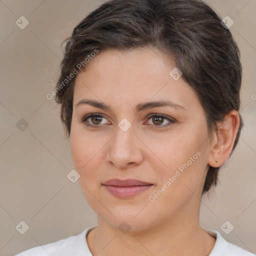
<path fill-rule="evenodd" d="M 116 134 L 109 141 L 106 160 L 121 169 L 138 165 L 144 157 L 141 148 L 142 144 L 134 134 L 132 125 L 126 131 L 117 126 Z"/>

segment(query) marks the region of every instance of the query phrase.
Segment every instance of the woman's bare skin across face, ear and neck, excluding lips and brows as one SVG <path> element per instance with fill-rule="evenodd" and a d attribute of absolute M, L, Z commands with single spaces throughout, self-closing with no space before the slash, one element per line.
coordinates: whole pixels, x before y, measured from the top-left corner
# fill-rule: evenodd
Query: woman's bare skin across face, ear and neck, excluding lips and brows
<path fill-rule="evenodd" d="M 98 226 L 85 237 L 94 255 L 209 255 L 215 238 L 199 225 L 199 206 L 208 164 L 220 166 L 231 153 L 239 125 L 237 111 L 230 111 L 218 131 L 208 135 L 204 110 L 182 76 L 174 80 L 160 51 L 150 48 L 127 52 L 99 52 L 75 79 L 70 148 L 79 186 L 98 216 Z M 81 99 L 111 106 L 112 112 Z M 161 106 L 135 111 L 138 103 L 172 100 L 185 110 Z M 100 113 L 102 119 L 88 118 Z M 148 119 L 164 114 L 176 121 Z M 123 131 L 118 123 L 131 126 Z M 88 127 L 94 124 L 99 128 Z M 158 128 L 157 128 L 158 127 Z M 154 202 L 149 196 L 197 151 L 201 154 L 184 169 Z M 102 182 L 110 178 L 134 178 L 153 184 L 129 198 L 110 194 Z M 126 221 L 130 230 L 118 226 Z"/>

